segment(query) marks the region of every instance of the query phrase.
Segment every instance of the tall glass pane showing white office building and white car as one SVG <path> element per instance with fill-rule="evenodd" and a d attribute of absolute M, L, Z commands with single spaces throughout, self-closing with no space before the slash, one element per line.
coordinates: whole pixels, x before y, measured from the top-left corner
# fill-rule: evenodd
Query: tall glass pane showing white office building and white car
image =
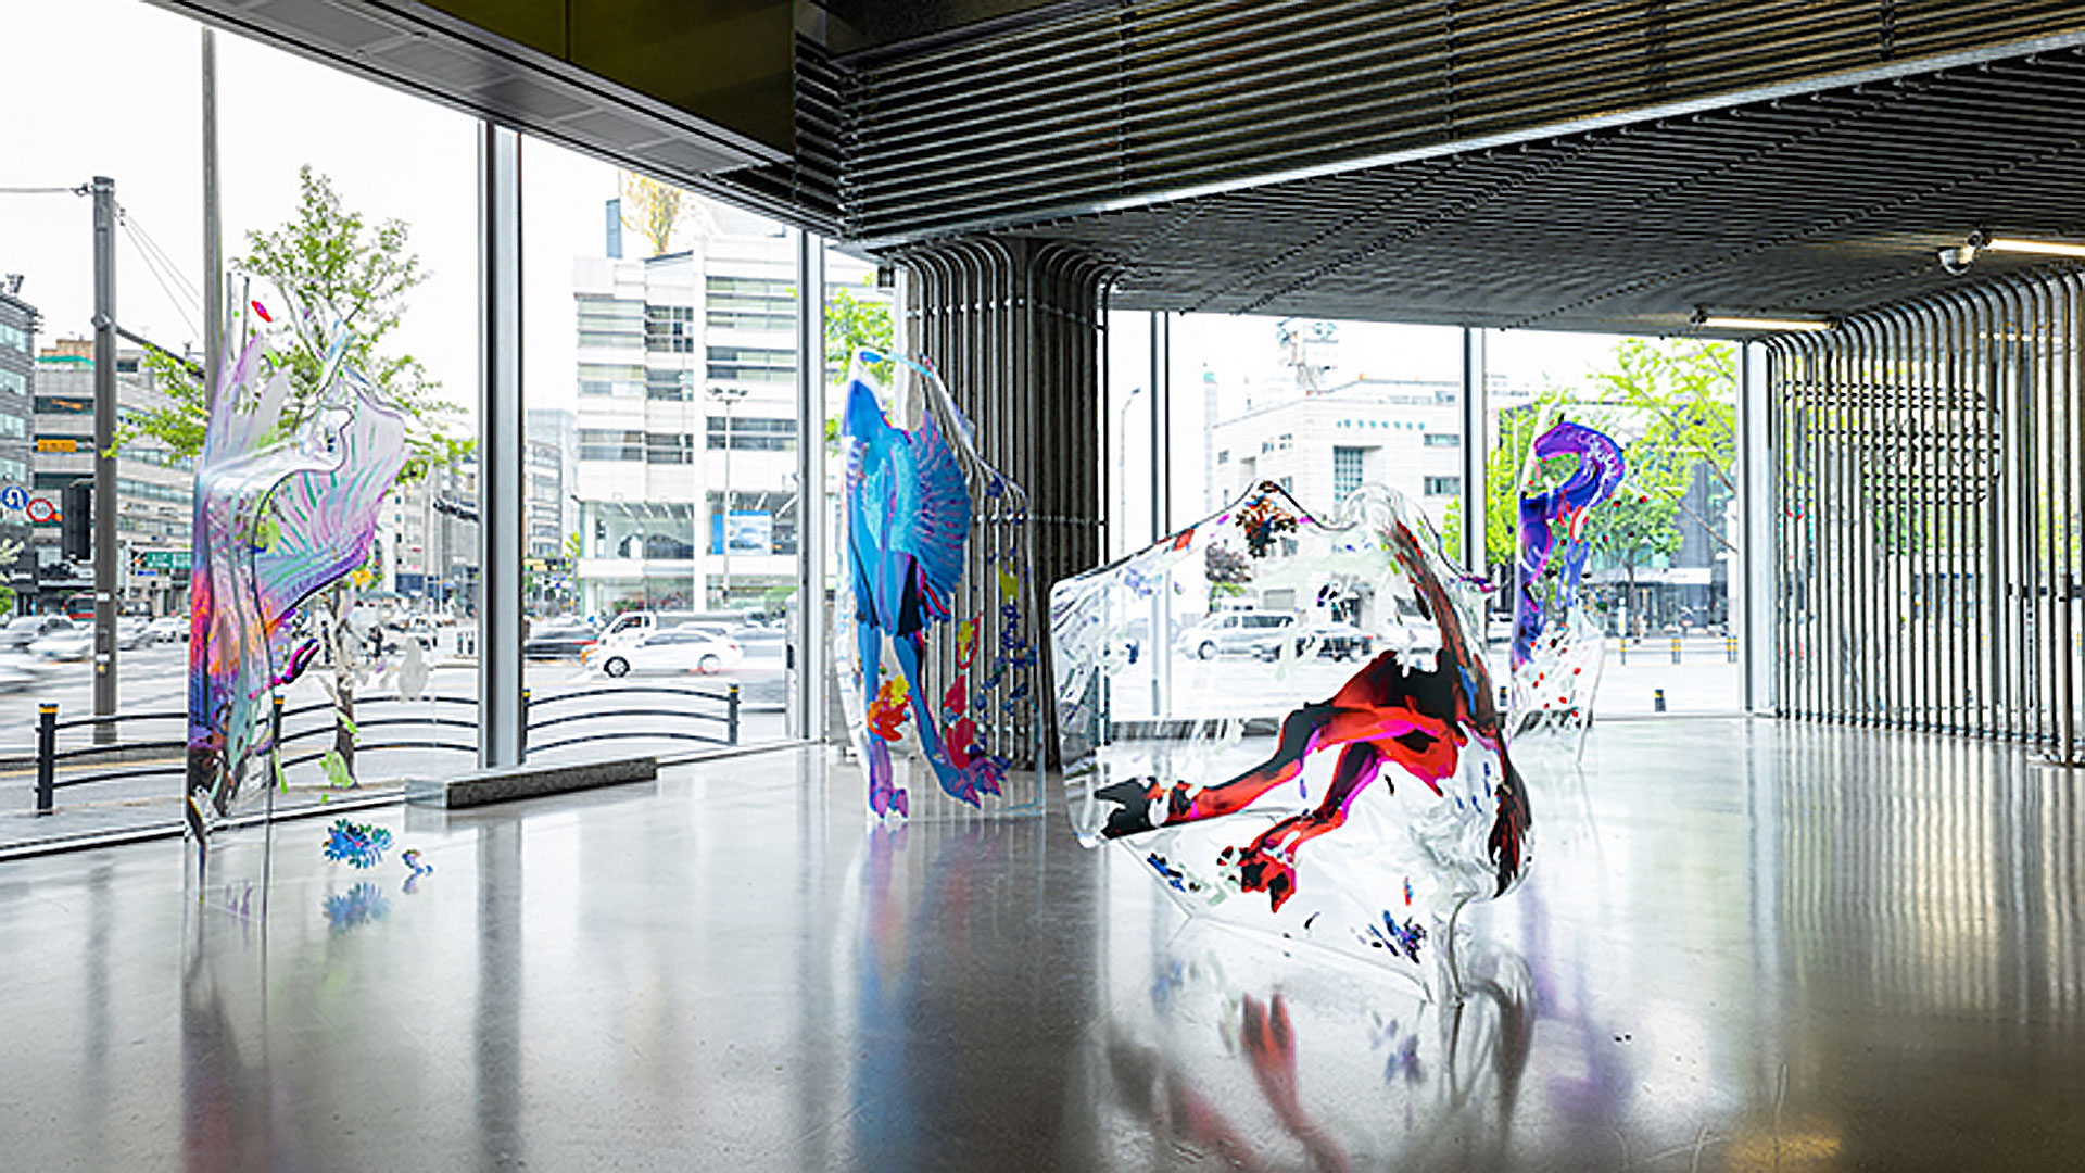
<path fill-rule="evenodd" d="M 796 234 L 534 138 L 521 188 L 530 758 L 792 737 Z"/>

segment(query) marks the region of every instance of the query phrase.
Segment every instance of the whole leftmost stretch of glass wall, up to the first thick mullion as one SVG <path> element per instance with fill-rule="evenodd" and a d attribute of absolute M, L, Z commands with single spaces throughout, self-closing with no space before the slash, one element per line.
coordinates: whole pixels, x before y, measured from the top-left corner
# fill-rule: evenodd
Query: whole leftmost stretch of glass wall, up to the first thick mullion
<path fill-rule="evenodd" d="M 19 92 L 65 100 L 19 123 L 0 196 L 10 273 L 0 282 L 0 720 L 17 731 L 0 743 L 33 756 L 42 703 L 56 705 L 60 749 L 96 741 L 71 722 L 94 712 L 100 589 L 119 609 L 117 720 L 104 741 L 179 741 L 200 440 L 200 411 L 179 390 L 200 378 L 204 351 L 202 33 L 133 0 L 19 6 L 8 33 L 92 44 L 98 67 L 81 86 L 77 54 L 10 65 Z M 221 240 L 242 328 L 284 365 L 352 332 L 361 365 L 413 417 L 421 455 L 438 457 L 392 488 L 350 582 L 302 607 L 323 651 L 284 691 L 288 770 L 275 808 L 294 810 L 475 764 L 475 123 L 236 35 L 215 46 Z M 65 541 L 65 493 L 96 463 L 94 232 L 79 194 L 96 175 L 115 190 L 119 338 L 115 499 L 90 509 L 115 518 L 113 582 Z M 317 271 L 306 244 L 344 248 L 363 276 Z M 402 701 L 409 660 L 404 691 L 417 699 Z M 38 804 L 27 783 L 0 793 L 13 795 L 0 810 Z M 179 753 L 90 753 L 56 770 L 52 816 L 19 827 L 63 837 L 173 824 L 179 795 Z"/>

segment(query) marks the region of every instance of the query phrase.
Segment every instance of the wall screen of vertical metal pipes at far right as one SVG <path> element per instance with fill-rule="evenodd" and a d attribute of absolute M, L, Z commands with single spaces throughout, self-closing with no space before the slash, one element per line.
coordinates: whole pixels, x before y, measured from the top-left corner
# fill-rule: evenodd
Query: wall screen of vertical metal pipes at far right
<path fill-rule="evenodd" d="M 2085 273 L 1768 344 L 1776 712 L 2077 762 Z"/>

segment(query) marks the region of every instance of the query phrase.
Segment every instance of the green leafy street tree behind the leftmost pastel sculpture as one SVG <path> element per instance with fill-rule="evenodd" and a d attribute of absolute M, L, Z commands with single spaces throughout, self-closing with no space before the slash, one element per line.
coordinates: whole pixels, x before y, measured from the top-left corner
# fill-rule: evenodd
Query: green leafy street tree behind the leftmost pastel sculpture
<path fill-rule="evenodd" d="M 231 273 L 246 278 L 248 298 L 267 309 L 267 319 L 256 313 L 250 321 L 267 336 L 267 374 L 286 372 L 290 380 L 284 432 L 294 432 L 319 411 L 327 346 L 346 336 L 344 361 L 407 415 L 411 455 L 400 482 L 423 478 L 430 468 L 469 451 L 469 440 L 446 430 L 455 407 L 440 399 L 440 384 L 427 378 L 419 359 L 388 346 L 404 319 L 407 294 L 427 280 L 404 221 L 369 223 L 342 205 L 332 179 L 306 165 L 298 169 L 296 213 L 281 228 L 248 232 L 246 255 L 231 263 Z M 198 455 L 208 424 L 202 382 L 169 355 L 146 351 L 146 365 L 169 403 L 131 417 L 117 445 L 152 436 L 177 457 Z M 354 768 L 354 687 L 363 660 L 348 614 L 354 609 L 352 580 L 369 574 L 365 566 L 323 591 L 317 607 L 306 607 L 334 666 L 329 676 L 321 676 L 338 714 L 334 756 L 325 762 L 334 776 Z"/>

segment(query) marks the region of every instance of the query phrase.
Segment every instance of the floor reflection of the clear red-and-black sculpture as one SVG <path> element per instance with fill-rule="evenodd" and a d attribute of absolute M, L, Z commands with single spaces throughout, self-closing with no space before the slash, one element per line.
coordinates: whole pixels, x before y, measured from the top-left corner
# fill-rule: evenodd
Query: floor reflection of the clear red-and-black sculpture
<path fill-rule="evenodd" d="M 1172 1148 L 1234 1169 L 1503 1160 L 1535 1025 L 1516 956 L 1476 950 L 1451 1006 L 1203 933 L 1153 960 L 1151 1012 L 1109 1021 L 1105 1071 L 1113 1102 Z"/>

